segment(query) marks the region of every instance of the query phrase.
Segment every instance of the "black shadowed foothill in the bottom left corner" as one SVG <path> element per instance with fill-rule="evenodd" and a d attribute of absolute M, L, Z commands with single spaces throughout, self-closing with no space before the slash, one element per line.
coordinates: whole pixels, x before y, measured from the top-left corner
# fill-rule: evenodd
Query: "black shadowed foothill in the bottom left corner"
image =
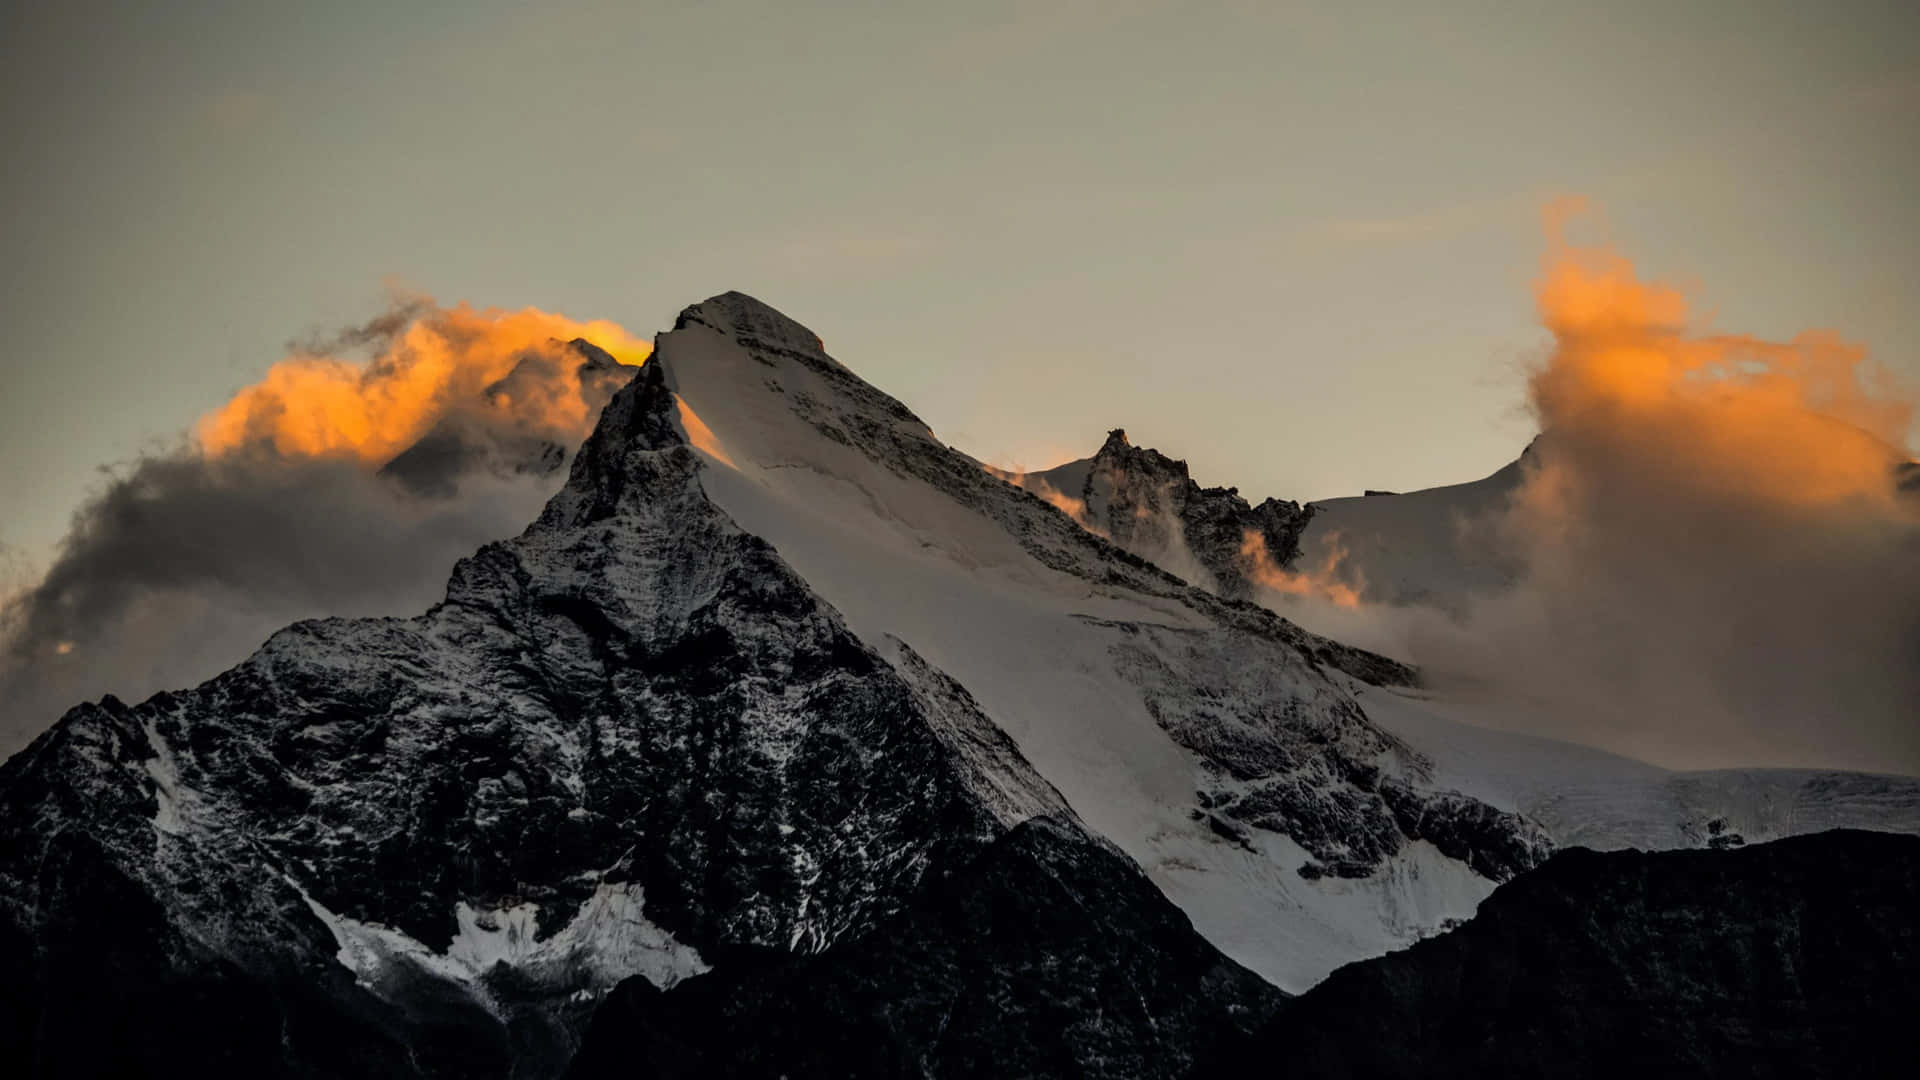
<path fill-rule="evenodd" d="M 330 959 L 319 926 L 265 913 L 261 934 L 288 934 L 286 949 L 242 963 L 182 932 L 86 832 L 40 855 L 35 884 L 52 907 L 31 932 L 0 922 L 12 1076 L 505 1076 L 497 1020 L 459 995 L 390 1007 Z"/>

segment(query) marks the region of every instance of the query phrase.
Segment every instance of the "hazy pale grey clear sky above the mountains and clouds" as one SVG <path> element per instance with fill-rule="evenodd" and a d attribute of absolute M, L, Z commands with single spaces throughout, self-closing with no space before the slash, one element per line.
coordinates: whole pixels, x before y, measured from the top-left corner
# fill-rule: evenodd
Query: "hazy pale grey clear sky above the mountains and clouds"
<path fill-rule="evenodd" d="M 1440 12 L 1450 8 L 1450 12 Z M 1334 13 L 1338 10 L 1338 13 Z M 1530 432 L 1538 208 L 1920 377 L 1912 4 L 13 4 L 0 542 L 397 279 L 726 288 L 1002 463 L 1323 498 Z"/>

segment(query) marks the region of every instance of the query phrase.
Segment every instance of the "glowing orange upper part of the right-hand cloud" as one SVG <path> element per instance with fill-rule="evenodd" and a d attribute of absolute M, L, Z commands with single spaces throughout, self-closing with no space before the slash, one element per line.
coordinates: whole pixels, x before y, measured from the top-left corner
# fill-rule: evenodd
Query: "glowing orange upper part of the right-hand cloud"
<path fill-rule="evenodd" d="M 1789 342 L 1693 331 L 1680 290 L 1640 281 L 1607 248 L 1567 240 L 1565 225 L 1582 209 L 1576 200 L 1549 208 L 1536 288 L 1553 354 L 1530 396 L 1553 440 L 1549 467 L 1603 448 L 1613 461 L 1624 454 L 1659 471 L 1665 486 L 1716 500 L 1895 498 L 1889 475 L 1907 457 L 1914 409 L 1862 348 L 1818 331 Z"/>

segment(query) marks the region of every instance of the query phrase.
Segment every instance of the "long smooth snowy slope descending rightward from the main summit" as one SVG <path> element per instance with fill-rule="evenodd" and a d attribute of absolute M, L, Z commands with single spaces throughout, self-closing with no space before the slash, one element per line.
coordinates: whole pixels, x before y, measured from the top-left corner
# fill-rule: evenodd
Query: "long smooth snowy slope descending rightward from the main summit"
<path fill-rule="evenodd" d="M 904 640 L 960 680 L 1089 826 L 1283 988 L 1469 915 L 1494 886 L 1471 863 L 1500 876 L 1544 851 L 1524 822 L 1432 792 L 1308 634 L 989 477 L 797 323 L 720 296 L 655 363 L 733 521 L 862 640 Z M 1405 813 L 1388 782 L 1413 792 Z"/>

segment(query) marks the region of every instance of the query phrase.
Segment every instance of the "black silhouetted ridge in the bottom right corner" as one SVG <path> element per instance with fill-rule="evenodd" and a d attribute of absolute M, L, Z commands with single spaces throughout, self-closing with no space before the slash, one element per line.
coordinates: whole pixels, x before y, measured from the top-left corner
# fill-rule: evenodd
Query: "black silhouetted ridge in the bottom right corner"
<path fill-rule="evenodd" d="M 1196 1076 L 1908 1076 L 1920 838 L 1571 849 Z"/>

